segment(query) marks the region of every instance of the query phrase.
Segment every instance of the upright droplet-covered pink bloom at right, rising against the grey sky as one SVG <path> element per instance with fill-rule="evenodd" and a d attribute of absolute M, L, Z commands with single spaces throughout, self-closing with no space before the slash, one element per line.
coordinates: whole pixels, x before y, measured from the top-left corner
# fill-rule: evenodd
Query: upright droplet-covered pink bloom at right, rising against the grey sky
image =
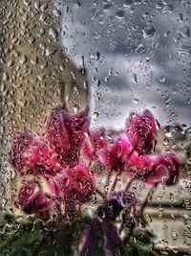
<path fill-rule="evenodd" d="M 131 114 L 126 122 L 126 131 L 130 143 L 139 154 L 152 151 L 157 128 L 155 119 L 148 110 L 140 115 Z"/>

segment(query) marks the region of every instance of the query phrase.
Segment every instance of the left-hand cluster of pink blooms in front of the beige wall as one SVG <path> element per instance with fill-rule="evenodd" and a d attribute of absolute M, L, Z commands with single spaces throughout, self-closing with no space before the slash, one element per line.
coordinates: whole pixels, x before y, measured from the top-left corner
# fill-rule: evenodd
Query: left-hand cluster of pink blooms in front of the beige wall
<path fill-rule="evenodd" d="M 64 108 L 53 109 L 47 125 L 48 142 L 24 132 L 12 141 L 10 162 L 16 171 L 34 175 L 25 182 L 18 193 L 18 205 L 27 214 L 51 210 L 53 197 L 58 200 L 82 202 L 94 192 L 94 176 L 79 155 L 88 130 L 88 111 L 70 116 Z M 47 180 L 49 195 L 40 183 Z"/>

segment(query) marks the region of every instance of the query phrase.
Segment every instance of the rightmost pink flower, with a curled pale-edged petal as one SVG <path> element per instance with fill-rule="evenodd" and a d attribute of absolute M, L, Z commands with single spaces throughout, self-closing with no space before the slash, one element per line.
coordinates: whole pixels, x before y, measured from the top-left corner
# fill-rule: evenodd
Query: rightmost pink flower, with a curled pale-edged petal
<path fill-rule="evenodd" d="M 159 155 L 155 161 L 152 172 L 145 176 L 145 182 L 151 185 L 177 184 L 180 175 L 180 159 L 175 153 L 167 152 Z"/>

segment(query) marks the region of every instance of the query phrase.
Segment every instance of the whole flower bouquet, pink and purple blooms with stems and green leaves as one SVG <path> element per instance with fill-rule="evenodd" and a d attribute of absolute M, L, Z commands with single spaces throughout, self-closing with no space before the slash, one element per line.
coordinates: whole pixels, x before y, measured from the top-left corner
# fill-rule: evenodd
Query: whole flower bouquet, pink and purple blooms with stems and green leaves
<path fill-rule="evenodd" d="M 44 131 L 12 140 L 18 191 L 1 225 L 1 255 L 157 255 L 143 209 L 159 183 L 178 182 L 178 156 L 155 153 L 159 123 L 148 110 L 115 136 L 89 125 L 88 109 L 71 116 L 56 107 Z M 150 184 L 143 201 L 135 180 Z"/>

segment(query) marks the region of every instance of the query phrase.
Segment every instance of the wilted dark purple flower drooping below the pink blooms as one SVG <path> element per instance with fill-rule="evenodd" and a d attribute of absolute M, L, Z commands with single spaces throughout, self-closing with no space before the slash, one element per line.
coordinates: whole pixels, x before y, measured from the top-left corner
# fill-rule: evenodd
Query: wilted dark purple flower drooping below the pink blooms
<path fill-rule="evenodd" d="M 133 192 L 121 191 L 114 193 L 98 208 L 96 218 L 84 231 L 78 256 L 93 255 L 100 239 L 104 239 L 105 255 L 115 256 L 121 246 L 121 239 L 114 223 L 122 212 L 125 228 L 127 221 L 131 221 L 128 231 L 130 234 L 134 227 L 138 225 L 140 214 L 138 211 L 138 201 Z"/>

